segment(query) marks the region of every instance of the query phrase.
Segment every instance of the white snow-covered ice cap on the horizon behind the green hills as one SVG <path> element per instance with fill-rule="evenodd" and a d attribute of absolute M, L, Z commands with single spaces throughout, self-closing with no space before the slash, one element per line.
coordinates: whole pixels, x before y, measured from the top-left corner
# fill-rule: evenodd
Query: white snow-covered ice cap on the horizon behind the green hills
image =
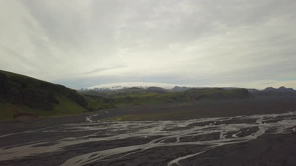
<path fill-rule="evenodd" d="M 162 87 L 164 89 L 172 89 L 175 86 L 186 86 L 186 87 L 198 87 L 196 85 L 178 85 L 178 84 L 169 84 L 169 83 L 153 83 L 153 82 L 120 82 L 120 83 L 109 83 L 109 84 L 101 84 L 91 87 L 85 87 L 80 89 L 79 91 L 87 91 L 87 90 L 96 90 L 96 91 L 114 91 L 123 88 L 129 87 L 139 87 L 139 88 L 149 88 L 149 87 Z"/>

